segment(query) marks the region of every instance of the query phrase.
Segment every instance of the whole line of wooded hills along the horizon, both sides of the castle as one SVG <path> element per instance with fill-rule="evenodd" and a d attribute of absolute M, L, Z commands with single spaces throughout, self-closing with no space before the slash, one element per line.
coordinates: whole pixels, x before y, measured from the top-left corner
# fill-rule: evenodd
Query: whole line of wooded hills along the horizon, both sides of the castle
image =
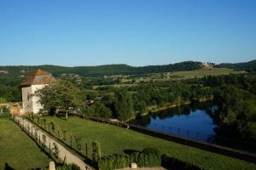
<path fill-rule="evenodd" d="M 0 71 L 8 71 L 9 74 L 0 74 L 0 78 L 8 77 L 19 77 L 21 75 L 26 76 L 30 72 L 37 69 L 42 69 L 44 71 L 49 71 L 54 76 L 58 77 L 61 74 L 72 73 L 78 74 L 83 77 L 101 77 L 101 76 L 111 76 L 111 75 L 143 75 L 148 73 L 161 73 L 161 72 L 171 72 L 171 71 L 194 71 L 202 67 L 201 62 L 196 61 L 183 61 L 175 64 L 169 65 L 147 65 L 147 66 L 131 66 L 131 65 L 97 65 L 97 66 L 59 66 L 59 65 L 7 65 L 0 66 Z M 222 63 L 219 65 L 214 65 L 218 68 L 230 68 L 242 71 L 256 71 L 256 59 L 243 62 L 243 63 Z M 20 71 L 25 71 L 20 72 Z M 1 80 L 1 79 L 0 79 Z"/>

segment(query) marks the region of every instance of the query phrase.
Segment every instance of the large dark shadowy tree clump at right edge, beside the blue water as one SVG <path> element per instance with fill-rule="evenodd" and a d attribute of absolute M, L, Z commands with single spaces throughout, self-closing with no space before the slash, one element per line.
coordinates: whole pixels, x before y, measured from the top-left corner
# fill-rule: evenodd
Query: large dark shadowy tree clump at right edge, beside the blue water
<path fill-rule="evenodd" d="M 227 86 L 215 94 L 218 110 L 213 116 L 225 136 L 256 141 L 256 96 Z"/>

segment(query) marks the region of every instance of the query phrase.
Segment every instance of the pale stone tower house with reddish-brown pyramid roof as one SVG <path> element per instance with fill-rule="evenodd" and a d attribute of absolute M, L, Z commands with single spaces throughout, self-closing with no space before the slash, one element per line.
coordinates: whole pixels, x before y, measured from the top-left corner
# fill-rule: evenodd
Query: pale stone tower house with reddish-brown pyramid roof
<path fill-rule="evenodd" d="M 32 72 L 23 82 L 21 82 L 22 91 L 22 114 L 38 114 L 42 106 L 38 103 L 38 97 L 35 92 L 45 86 L 55 83 L 55 77 L 47 71 Z"/>

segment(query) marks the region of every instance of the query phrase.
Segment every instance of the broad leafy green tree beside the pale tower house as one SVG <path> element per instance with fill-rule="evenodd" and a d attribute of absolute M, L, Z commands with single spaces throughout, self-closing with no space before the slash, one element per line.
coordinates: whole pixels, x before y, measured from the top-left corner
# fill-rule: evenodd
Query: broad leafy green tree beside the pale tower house
<path fill-rule="evenodd" d="M 55 112 L 70 111 L 75 113 L 82 111 L 84 101 L 80 95 L 79 88 L 76 88 L 71 82 L 57 82 L 55 84 L 45 86 L 36 92 L 38 102 L 43 106 L 44 113 L 55 114 Z"/>

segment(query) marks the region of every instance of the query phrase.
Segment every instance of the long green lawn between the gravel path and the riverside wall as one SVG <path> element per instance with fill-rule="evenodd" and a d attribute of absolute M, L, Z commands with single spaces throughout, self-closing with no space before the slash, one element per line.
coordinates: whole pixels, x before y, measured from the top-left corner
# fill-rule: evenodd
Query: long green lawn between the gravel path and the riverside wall
<path fill-rule="evenodd" d="M 168 153 L 171 156 L 193 162 L 206 169 L 256 169 L 256 164 L 251 162 L 199 150 L 165 139 L 154 138 L 130 129 L 85 121 L 72 116 L 67 121 L 57 117 L 48 116 L 45 118 L 48 122 L 55 122 L 60 127 L 67 129 L 67 132 L 72 131 L 73 135 L 81 137 L 83 152 L 85 142 L 89 144 L 89 150 L 91 150 L 91 142 L 97 140 L 101 144 L 103 156 L 115 153 L 121 154 L 124 153 L 124 150 L 143 150 L 146 147 L 154 147 L 159 149 L 161 153 Z"/>

